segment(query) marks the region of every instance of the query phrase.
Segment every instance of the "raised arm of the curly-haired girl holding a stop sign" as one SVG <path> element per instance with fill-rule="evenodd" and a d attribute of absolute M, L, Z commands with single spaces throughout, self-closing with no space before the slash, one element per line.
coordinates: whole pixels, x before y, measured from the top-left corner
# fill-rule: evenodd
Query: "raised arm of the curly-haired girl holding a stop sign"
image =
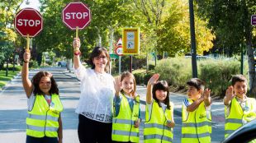
<path fill-rule="evenodd" d="M 22 66 L 22 71 L 21 71 L 21 79 L 22 79 L 22 85 L 23 88 L 26 92 L 26 97 L 29 98 L 31 96 L 33 86 L 31 83 L 31 80 L 29 79 L 29 61 L 31 58 L 31 53 L 29 50 L 26 50 L 25 53 L 23 54 L 23 66 Z"/>

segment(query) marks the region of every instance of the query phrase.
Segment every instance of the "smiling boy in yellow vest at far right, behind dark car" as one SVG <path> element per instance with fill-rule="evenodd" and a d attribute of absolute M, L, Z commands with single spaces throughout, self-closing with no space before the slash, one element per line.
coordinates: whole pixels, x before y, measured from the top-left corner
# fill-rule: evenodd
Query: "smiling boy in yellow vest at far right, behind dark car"
<path fill-rule="evenodd" d="M 232 85 L 226 90 L 224 98 L 225 137 L 256 118 L 256 100 L 246 96 L 246 78 L 243 75 L 235 75 L 231 82 Z"/>

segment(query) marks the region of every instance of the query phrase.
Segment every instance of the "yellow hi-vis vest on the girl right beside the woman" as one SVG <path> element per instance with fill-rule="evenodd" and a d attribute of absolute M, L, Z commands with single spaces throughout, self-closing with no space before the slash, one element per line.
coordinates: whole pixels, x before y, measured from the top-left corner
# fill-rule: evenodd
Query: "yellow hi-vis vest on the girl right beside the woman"
<path fill-rule="evenodd" d="M 114 114 L 112 119 L 112 141 L 122 142 L 139 142 L 140 130 L 135 128 L 135 121 L 139 118 L 140 96 L 135 97 L 133 110 L 125 95 L 122 95 L 120 109 L 118 115 Z M 115 111 L 115 110 L 114 110 Z"/>

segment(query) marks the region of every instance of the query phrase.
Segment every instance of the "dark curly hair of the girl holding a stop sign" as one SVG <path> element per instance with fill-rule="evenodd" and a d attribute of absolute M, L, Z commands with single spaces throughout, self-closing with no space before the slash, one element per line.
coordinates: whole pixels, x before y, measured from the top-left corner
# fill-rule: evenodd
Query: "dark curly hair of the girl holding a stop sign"
<path fill-rule="evenodd" d="M 52 95 L 52 94 L 59 95 L 58 85 L 57 85 L 53 75 L 48 71 L 39 71 L 36 73 L 35 76 L 33 76 L 33 78 L 32 78 L 32 84 L 34 85 L 33 94 L 34 95 L 44 95 L 43 91 L 40 90 L 40 88 L 39 88 L 40 79 L 43 76 L 50 77 L 50 82 L 51 82 L 50 91 L 49 91 L 50 95 Z"/>

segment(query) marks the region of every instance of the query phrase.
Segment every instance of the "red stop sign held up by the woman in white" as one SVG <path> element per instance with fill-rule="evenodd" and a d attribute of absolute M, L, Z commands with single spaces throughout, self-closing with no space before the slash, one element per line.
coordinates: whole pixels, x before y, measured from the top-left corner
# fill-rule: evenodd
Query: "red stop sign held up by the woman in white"
<path fill-rule="evenodd" d="M 90 9 L 82 2 L 70 2 L 62 11 L 62 21 L 71 30 L 82 30 L 91 21 Z"/>

